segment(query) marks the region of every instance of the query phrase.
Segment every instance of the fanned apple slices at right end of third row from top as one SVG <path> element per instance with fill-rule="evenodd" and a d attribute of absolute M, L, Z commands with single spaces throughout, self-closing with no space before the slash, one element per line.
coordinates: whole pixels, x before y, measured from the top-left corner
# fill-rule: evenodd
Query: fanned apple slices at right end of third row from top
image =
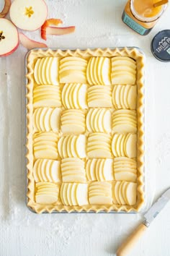
<path fill-rule="evenodd" d="M 112 114 L 113 132 L 137 132 L 137 114 L 135 110 L 119 109 Z"/>

